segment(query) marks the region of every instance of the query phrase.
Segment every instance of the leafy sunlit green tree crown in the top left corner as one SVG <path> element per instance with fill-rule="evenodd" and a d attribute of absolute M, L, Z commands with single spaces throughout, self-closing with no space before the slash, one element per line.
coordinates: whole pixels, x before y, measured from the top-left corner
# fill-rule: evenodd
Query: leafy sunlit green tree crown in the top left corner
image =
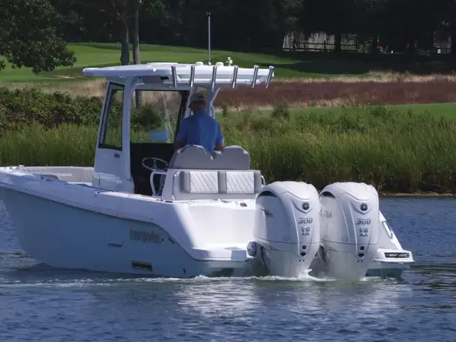
<path fill-rule="evenodd" d="M 58 36 L 58 19 L 48 0 L 1 0 L 0 56 L 13 68 L 32 68 L 33 73 L 73 66 L 74 51 Z"/>

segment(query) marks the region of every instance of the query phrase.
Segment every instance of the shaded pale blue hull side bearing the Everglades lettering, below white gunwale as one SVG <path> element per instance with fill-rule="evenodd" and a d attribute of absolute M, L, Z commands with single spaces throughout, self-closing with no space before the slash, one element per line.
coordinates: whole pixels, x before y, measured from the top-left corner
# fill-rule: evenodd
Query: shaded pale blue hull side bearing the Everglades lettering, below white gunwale
<path fill-rule="evenodd" d="M 150 222 L 113 217 L 7 188 L 1 196 L 21 247 L 49 266 L 179 278 L 231 274 L 247 266 L 194 259 Z"/>

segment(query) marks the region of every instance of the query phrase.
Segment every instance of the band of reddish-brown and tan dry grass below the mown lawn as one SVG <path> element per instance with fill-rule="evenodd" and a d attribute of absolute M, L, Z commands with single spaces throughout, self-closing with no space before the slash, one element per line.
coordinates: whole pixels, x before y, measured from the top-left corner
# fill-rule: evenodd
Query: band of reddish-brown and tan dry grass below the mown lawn
<path fill-rule="evenodd" d="M 388 74 L 386 74 L 388 75 Z M 257 108 L 270 110 L 285 100 L 290 108 L 338 107 L 341 105 L 396 105 L 411 103 L 456 102 L 456 76 L 392 76 L 370 78 L 293 78 L 274 79 L 268 89 L 223 89 L 214 106 L 217 110 Z M 71 97 L 93 96 L 101 100 L 105 82 L 100 79 L 64 83 L 0 83 L 8 89 L 38 88 L 44 93 L 68 93 Z M 156 103 L 152 92 L 143 95 L 144 103 Z"/>

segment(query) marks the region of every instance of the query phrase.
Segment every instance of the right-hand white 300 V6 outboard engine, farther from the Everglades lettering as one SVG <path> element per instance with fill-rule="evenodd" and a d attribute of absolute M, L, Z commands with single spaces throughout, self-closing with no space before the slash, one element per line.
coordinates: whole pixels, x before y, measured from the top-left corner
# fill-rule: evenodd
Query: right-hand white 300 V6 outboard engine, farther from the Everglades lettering
<path fill-rule="evenodd" d="M 366 276 L 380 239 L 378 192 L 372 185 L 336 182 L 320 194 L 321 244 L 326 276 Z"/>

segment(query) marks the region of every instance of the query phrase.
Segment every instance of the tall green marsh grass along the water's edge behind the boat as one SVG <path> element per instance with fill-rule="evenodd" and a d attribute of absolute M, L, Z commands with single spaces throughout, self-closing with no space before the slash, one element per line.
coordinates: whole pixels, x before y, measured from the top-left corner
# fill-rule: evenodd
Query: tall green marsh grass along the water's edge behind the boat
<path fill-rule="evenodd" d="M 282 108 L 283 110 L 283 108 Z M 242 145 L 266 180 L 302 180 L 322 189 L 355 181 L 385 192 L 456 192 L 456 118 L 384 107 L 341 115 L 303 112 L 220 118 L 229 145 Z M 135 130 L 136 141 L 147 137 Z M 97 128 L 33 123 L 0 137 L 0 165 L 93 165 Z"/>

